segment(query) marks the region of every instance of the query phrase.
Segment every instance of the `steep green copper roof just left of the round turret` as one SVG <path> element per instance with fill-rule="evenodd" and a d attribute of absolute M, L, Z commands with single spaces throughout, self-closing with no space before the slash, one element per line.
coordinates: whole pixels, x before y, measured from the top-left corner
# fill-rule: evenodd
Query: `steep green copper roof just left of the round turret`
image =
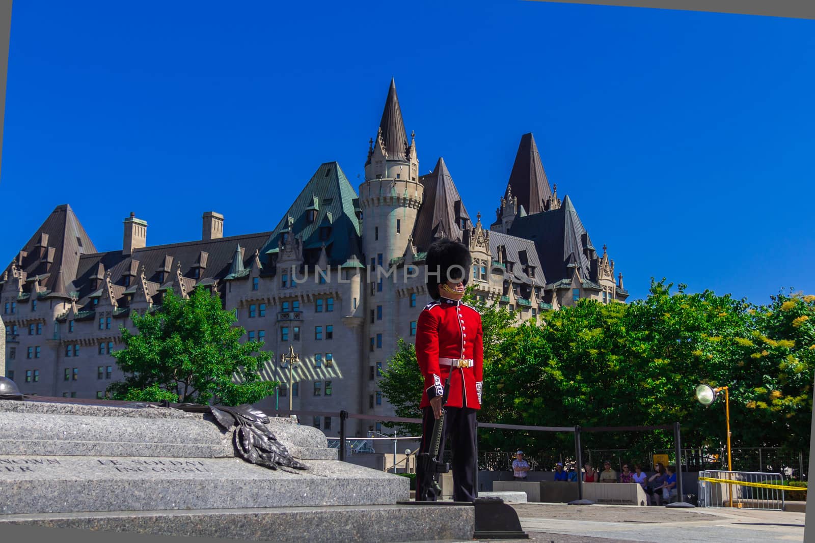
<path fill-rule="evenodd" d="M 359 258 L 361 243 L 356 200 L 356 191 L 340 165 L 337 162 L 321 164 L 289 210 L 283 213 L 268 243 L 260 251 L 262 258 L 268 261 L 279 249 L 280 233 L 289 228 L 288 217 L 293 219 L 289 235 L 301 239 L 305 249 L 317 251 L 323 244 L 330 247 L 328 264 L 341 265 L 351 256 Z M 307 221 L 306 211 L 315 208 L 317 217 L 314 221 Z M 320 239 L 320 226 L 328 225 L 331 230 L 327 239 Z"/>

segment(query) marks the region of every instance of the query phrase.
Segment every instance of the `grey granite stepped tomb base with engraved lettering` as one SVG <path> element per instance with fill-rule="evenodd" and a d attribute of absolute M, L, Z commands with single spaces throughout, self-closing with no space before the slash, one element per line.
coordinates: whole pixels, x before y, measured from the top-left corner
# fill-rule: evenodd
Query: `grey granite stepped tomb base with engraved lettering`
<path fill-rule="evenodd" d="M 0 526 L 262 541 L 472 537 L 472 507 L 439 515 L 397 506 L 409 497 L 407 478 L 339 462 L 316 428 L 271 419 L 267 427 L 307 466 L 272 470 L 236 458 L 232 431 L 210 416 L 0 401 Z"/>

